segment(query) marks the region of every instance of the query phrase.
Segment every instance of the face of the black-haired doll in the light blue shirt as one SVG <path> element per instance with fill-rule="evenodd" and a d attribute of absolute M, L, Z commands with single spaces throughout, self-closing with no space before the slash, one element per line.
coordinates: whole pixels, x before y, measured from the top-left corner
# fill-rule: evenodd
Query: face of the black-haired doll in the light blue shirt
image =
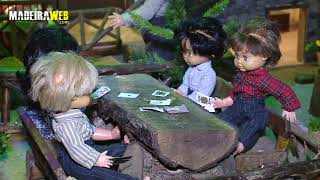
<path fill-rule="evenodd" d="M 184 61 L 188 65 L 195 66 L 195 65 L 207 62 L 209 60 L 207 57 L 199 56 L 193 53 L 189 39 L 186 39 L 184 41 L 185 42 L 182 42 L 182 43 L 185 43 L 185 47 L 182 50 L 182 55 L 183 55 Z"/>

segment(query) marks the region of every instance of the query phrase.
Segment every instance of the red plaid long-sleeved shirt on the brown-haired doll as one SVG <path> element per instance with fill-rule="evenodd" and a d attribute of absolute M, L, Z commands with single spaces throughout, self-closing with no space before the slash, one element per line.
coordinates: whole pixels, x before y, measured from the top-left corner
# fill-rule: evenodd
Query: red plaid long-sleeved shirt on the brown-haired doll
<path fill-rule="evenodd" d="M 291 112 L 300 107 L 299 99 L 293 90 L 283 82 L 274 79 L 265 68 L 238 72 L 233 80 L 233 91 L 230 97 L 232 100 L 239 95 L 245 98 L 262 97 L 265 93 L 277 98 L 286 111 Z"/>

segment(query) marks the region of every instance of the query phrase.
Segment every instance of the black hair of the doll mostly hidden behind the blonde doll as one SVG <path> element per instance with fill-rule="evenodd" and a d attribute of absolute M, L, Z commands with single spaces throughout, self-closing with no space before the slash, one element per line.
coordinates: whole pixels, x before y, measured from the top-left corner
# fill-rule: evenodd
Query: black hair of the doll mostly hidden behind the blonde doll
<path fill-rule="evenodd" d="M 52 51 L 80 52 L 77 40 L 61 27 L 49 27 L 37 29 L 30 35 L 23 52 L 23 64 L 26 68 L 25 77 L 22 80 L 22 89 L 28 93 L 31 84 L 30 69 L 40 56 Z"/>

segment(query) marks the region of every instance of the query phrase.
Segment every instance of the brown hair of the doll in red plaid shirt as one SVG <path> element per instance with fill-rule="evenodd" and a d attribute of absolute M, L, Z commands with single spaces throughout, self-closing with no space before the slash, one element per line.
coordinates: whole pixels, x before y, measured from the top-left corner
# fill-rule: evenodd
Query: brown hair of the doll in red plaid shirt
<path fill-rule="evenodd" d="M 280 31 L 275 23 L 258 19 L 240 27 L 227 44 L 234 51 L 266 57 L 265 65 L 274 66 L 281 58 L 280 40 Z"/>

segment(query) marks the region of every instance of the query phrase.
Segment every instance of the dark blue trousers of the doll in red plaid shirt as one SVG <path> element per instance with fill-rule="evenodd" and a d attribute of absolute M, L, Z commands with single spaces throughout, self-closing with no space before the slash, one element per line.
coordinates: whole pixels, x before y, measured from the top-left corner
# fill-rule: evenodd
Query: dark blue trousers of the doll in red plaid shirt
<path fill-rule="evenodd" d="M 239 129 L 240 142 L 245 150 L 251 149 L 268 125 L 269 112 L 264 97 L 236 97 L 232 106 L 221 112 L 218 117 Z"/>

